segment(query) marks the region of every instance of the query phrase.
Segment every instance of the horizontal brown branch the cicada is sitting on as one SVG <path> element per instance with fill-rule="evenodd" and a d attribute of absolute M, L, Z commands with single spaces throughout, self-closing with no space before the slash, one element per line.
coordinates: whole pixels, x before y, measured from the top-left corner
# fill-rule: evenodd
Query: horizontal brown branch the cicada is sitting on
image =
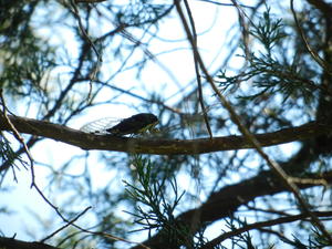
<path fill-rule="evenodd" d="M 163 139 L 159 137 L 116 137 L 111 135 L 93 135 L 69 128 L 66 126 L 37 121 L 27 117 L 9 116 L 20 133 L 48 137 L 83 149 L 115 151 L 126 153 L 157 154 L 157 155 L 193 155 L 220 151 L 252 148 L 243 136 L 224 136 L 199 139 Z M 0 131 L 10 127 L 0 115 Z M 308 123 L 301 126 L 283 128 L 273 133 L 257 134 L 256 138 L 261 146 L 273 146 L 294 141 L 303 141 L 315 136 L 332 133 L 331 125 Z"/>

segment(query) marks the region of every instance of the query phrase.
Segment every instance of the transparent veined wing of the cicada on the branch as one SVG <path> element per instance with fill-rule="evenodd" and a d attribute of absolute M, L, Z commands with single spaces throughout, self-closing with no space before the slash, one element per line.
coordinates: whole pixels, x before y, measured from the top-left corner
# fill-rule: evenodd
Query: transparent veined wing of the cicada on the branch
<path fill-rule="evenodd" d="M 122 120 L 115 117 L 103 117 L 83 125 L 80 131 L 84 133 L 106 135 L 110 134 L 106 129 L 118 124 Z"/>

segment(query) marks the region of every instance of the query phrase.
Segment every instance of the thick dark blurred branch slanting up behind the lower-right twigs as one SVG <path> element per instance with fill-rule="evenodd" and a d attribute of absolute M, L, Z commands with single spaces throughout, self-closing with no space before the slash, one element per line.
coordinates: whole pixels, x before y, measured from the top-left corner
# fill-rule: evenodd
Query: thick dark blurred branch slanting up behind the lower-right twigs
<path fill-rule="evenodd" d="M 319 176 L 318 176 L 319 175 Z M 324 174 L 308 174 L 305 177 L 312 179 L 322 179 L 326 184 L 332 183 L 332 172 Z M 317 186 L 312 180 L 310 184 L 298 184 L 300 189 Z M 280 179 L 271 172 L 261 172 L 257 176 L 242 180 L 239 184 L 226 186 L 219 191 L 214 193 L 206 203 L 199 208 L 190 209 L 179 215 L 175 222 L 181 226 L 191 228 L 195 234 L 204 224 L 210 224 L 225 217 L 229 217 L 240 206 L 249 201 L 262 197 L 287 191 L 288 188 L 280 181 Z M 195 226 L 194 226 L 195 225 Z M 156 236 L 143 242 L 154 249 L 166 249 L 169 243 L 168 239 L 159 231 Z M 180 245 L 178 245 L 180 246 Z M 133 249 L 141 249 L 136 246 Z"/>

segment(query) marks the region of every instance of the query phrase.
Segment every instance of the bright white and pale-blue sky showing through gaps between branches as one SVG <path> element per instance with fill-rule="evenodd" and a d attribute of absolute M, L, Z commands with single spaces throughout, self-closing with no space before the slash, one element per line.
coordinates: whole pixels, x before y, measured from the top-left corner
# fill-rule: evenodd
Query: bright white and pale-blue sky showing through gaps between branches
<path fill-rule="evenodd" d="M 55 4 L 55 3 L 54 3 Z M 56 6 L 56 4 L 55 4 Z M 220 65 L 220 61 L 227 55 L 225 51 L 225 43 L 230 42 L 229 39 L 234 35 L 234 30 L 230 31 L 231 25 L 237 21 L 237 13 L 234 8 L 216 8 L 214 4 L 209 4 L 203 1 L 190 1 L 193 15 L 195 18 L 198 38 L 198 46 L 200 49 L 201 55 L 208 65 L 210 72 L 215 72 Z M 102 9 L 102 8 L 101 8 Z M 60 14 L 61 10 L 55 9 L 56 13 Z M 35 17 L 35 22 L 43 20 L 48 21 L 50 15 L 48 12 L 40 11 L 39 15 Z M 38 30 L 40 35 L 45 35 L 51 39 L 51 42 L 54 44 L 65 44 L 68 51 L 70 51 L 72 56 L 76 56 L 76 43 L 74 41 L 74 35 L 70 32 L 69 29 L 59 23 L 55 29 L 50 31 L 48 28 L 41 28 Z M 111 28 L 107 24 L 98 25 L 96 33 L 103 33 Z M 165 40 L 172 42 L 164 42 Z M 180 50 L 173 51 L 176 48 L 181 48 Z M 157 56 L 157 60 L 148 63 L 139 82 L 144 82 L 144 85 L 148 87 L 149 91 L 160 92 L 165 94 L 166 104 L 170 105 L 177 103 L 179 98 L 179 89 L 187 86 L 194 87 L 196 84 L 194 82 L 193 75 L 195 75 L 195 69 L 193 64 L 193 54 L 188 50 L 188 43 L 186 41 L 186 35 L 183 32 L 183 27 L 178 18 L 167 19 L 160 23 L 160 29 L 158 32 L 158 39 L 152 42 L 149 48 L 151 52 L 154 54 L 160 54 Z M 168 53 L 167 51 L 173 51 Z M 138 56 L 137 56 L 138 58 Z M 175 63 L 176 58 L 176 63 Z M 134 56 L 135 59 L 135 56 Z M 134 60 L 133 59 L 133 60 Z M 110 69 L 107 58 L 102 64 L 102 72 L 104 79 L 107 79 L 107 69 Z M 134 63 L 135 61 L 132 61 Z M 237 68 L 241 62 L 238 58 L 235 58 L 230 61 L 230 65 Z M 163 68 L 160 68 L 163 64 Z M 113 64 L 112 64 L 113 65 Z M 61 73 L 64 75 L 69 69 L 59 68 L 54 71 L 54 74 Z M 174 77 L 176 81 L 174 81 Z M 63 76 L 63 80 L 66 77 Z M 114 85 L 123 86 L 128 85 L 128 89 L 134 87 L 133 92 L 141 93 L 135 85 L 137 84 L 137 77 L 134 72 L 126 71 L 118 74 L 113 79 L 112 83 Z M 194 85 L 193 85 L 194 84 Z M 108 92 L 100 95 L 101 101 L 107 100 L 110 96 Z M 211 96 L 212 97 L 212 96 Z M 135 100 L 125 97 L 121 98 L 123 102 L 135 102 Z M 105 108 L 107 107 L 107 112 Z M 83 113 L 81 116 L 73 118 L 69 126 L 73 128 L 80 128 L 86 122 L 92 120 L 97 120 L 106 116 L 121 116 L 126 117 L 135 114 L 135 110 L 129 106 L 123 105 L 118 106 L 98 106 L 91 110 L 90 112 Z M 27 112 L 25 106 L 17 106 L 18 114 L 24 115 Z M 108 111 L 110 110 L 110 111 Z M 33 111 L 30 112 L 30 117 L 33 117 Z M 28 116 L 29 116 L 28 115 Z M 290 152 L 289 145 L 286 145 L 284 151 Z M 37 183 L 41 186 L 42 189 L 45 189 L 49 183 L 50 169 L 46 165 L 52 165 L 52 167 L 58 168 L 66 160 L 69 160 L 73 155 L 82 155 L 83 152 L 81 148 L 73 147 L 60 142 L 54 142 L 51 139 L 45 139 L 42 143 L 39 143 L 32 148 L 32 155 L 34 159 L 39 163 L 44 164 L 45 166 L 38 166 L 35 168 Z M 92 158 L 93 164 L 97 164 L 96 157 Z M 97 170 L 96 170 L 97 168 Z M 77 164 L 74 169 L 69 172 L 70 174 L 80 174 L 82 172 L 83 165 Z M 105 177 L 104 167 L 94 168 L 95 179 Z M 107 173 L 108 177 L 112 178 L 114 175 Z M 18 183 L 12 180 L 11 173 L 7 177 L 3 186 L 9 186 L 12 190 L 2 194 L 0 199 L 0 207 L 3 204 L 10 204 L 10 208 L 14 207 L 14 211 L 11 216 L 3 216 L 0 214 L 0 227 L 7 237 L 11 237 L 17 234 L 17 239 L 31 240 L 31 239 L 41 239 L 45 236 L 44 230 L 39 230 L 39 222 L 35 221 L 37 216 L 42 218 L 44 217 L 54 217 L 54 211 L 45 204 L 45 201 L 40 197 L 35 189 L 30 188 L 31 184 L 31 173 L 25 169 L 17 170 Z M 106 181 L 107 179 L 104 178 Z M 122 179 L 120 179 L 120 183 Z M 95 187 L 100 187 L 98 184 L 103 185 L 102 181 L 95 180 Z M 191 183 L 185 181 L 183 188 L 189 188 Z M 187 186 L 186 186 L 187 185 Z M 56 187 L 56 186 L 55 186 Z M 61 187 L 61 186 L 59 186 Z M 49 193 L 50 194 L 50 193 Z M 81 207 L 80 207 L 81 208 Z M 56 218 L 55 218 L 56 219 Z M 58 228 L 62 222 L 60 219 L 54 227 L 50 228 L 50 231 Z M 33 232 L 27 232 L 25 228 L 33 229 Z"/>

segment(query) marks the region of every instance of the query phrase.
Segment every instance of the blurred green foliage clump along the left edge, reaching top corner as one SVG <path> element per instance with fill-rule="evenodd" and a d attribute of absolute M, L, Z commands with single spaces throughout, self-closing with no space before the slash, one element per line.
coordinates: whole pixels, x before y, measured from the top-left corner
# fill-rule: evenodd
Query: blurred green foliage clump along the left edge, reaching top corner
<path fill-rule="evenodd" d="M 31 24 L 27 24 L 27 19 L 30 20 L 34 13 L 35 2 L 25 6 L 21 1 L 11 1 L 7 4 L 8 9 L 1 15 L 1 19 L 7 19 L 0 22 L 0 86 L 13 95 L 44 95 L 43 80 L 55 62 L 54 52 L 46 41 L 35 34 Z"/>

